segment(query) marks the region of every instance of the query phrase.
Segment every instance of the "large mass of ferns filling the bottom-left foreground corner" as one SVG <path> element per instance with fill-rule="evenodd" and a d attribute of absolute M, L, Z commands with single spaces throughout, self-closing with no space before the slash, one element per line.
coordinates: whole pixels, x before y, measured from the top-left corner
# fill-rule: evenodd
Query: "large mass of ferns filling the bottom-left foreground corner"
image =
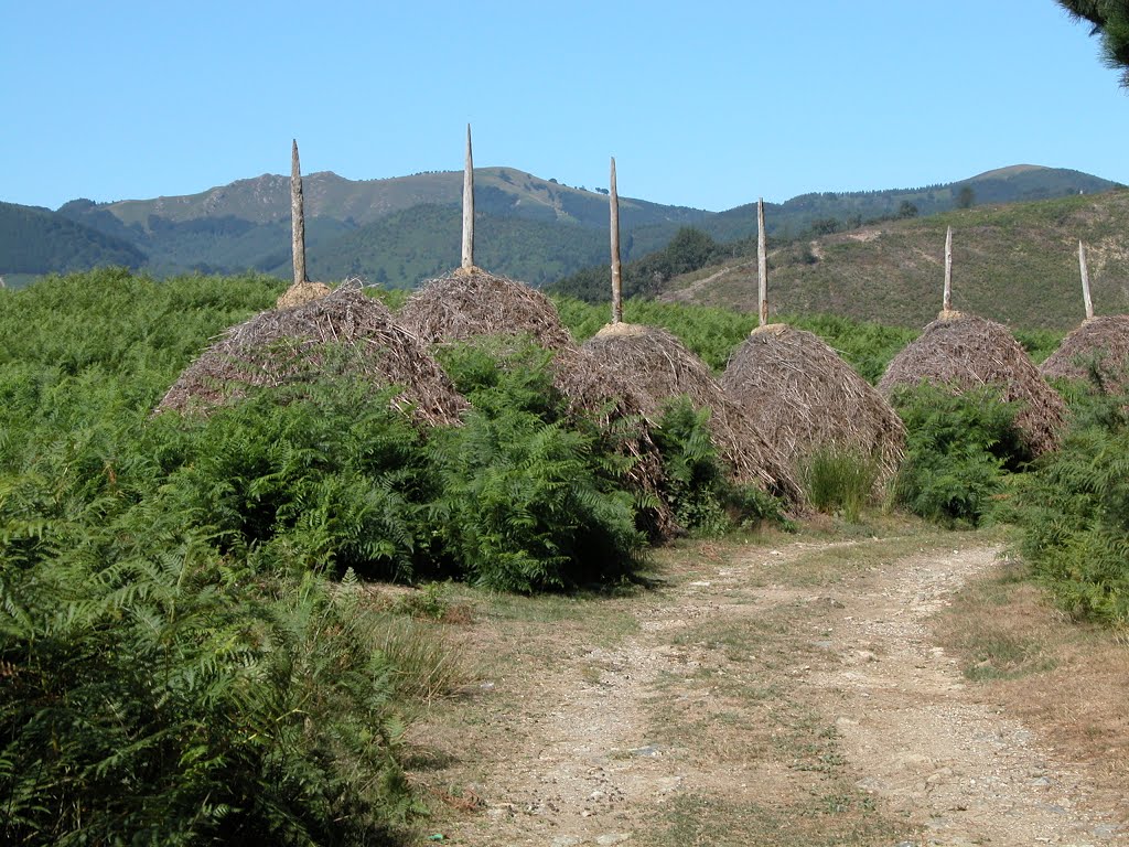
<path fill-rule="evenodd" d="M 0 579 L 6 844 L 361 844 L 409 811 L 359 604 L 160 509 L 89 532 Z"/>

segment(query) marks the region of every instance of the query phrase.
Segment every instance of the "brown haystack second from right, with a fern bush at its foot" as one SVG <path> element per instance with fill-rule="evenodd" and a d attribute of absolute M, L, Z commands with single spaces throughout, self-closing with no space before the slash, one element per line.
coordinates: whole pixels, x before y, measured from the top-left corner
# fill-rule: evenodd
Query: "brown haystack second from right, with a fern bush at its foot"
<path fill-rule="evenodd" d="M 994 385 L 1005 402 L 1019 401 L 1015 422 L 1032 453 L 1058 446 L 1066 416 L 1062 398 L 1007 328 L 975 315 L 943 312 L 893 358 L 878 383 L 887 398 L 900 385 L 921 382 L 966 391 Z"/>

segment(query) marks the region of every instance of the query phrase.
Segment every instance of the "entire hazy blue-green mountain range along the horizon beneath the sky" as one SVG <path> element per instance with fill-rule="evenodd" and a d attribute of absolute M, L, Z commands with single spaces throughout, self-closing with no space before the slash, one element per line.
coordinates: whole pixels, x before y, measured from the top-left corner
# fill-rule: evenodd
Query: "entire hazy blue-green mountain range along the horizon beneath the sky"
<path fill-rule="evenodd" d="M 544 285 L 607 261 L 606 190 L 574 187 L 508 167 L 476 168 L 475 261 L 496 273 Z M 462 174 L 432 172 L 352 181 L 304 177 L 307 264 L 313 279 L 356 276 L 413 287 L 458 263 Z M 769 204 L 770 235 L 796 237 L 905 215 L 948 212 L 965 201 L 1010 203 L 1089 195 L 1115 183 L 1077 171 L 1017 166 L 924 189 L 805 194 Z M 962 193 L 962 190 L 965 190 Z M 621 198 L 625 261 L 662 248 L 682 227 L 718 242 L 755 233 L 753 206 L 723 212 Z M 157 276 L 185 271 L 290 270 L 289 177 L 263 175 L 199 194 L 95 203 L 58 211 L 0 204 L 0 276 L 104 264 Z"/>

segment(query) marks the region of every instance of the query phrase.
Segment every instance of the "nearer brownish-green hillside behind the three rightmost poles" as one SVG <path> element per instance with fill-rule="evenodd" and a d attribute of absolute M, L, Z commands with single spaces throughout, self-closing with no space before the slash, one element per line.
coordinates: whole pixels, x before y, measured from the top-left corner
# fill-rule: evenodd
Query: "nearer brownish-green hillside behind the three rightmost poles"
<path fill-rule="evenodd" d="M 1024 172 L 995 172 L 988 191 L 1024 186 Z M 1026 185 L 1024 190 L 1039 191 Z M 953 306 L 1009 326 L 1066 330 L 1084 315 L 1078 239 L 1087 248 L 1097 314 L 1129 312 L 1129 190 L 977 206 L 891 220 L 773 250 L 773 313 L 837 313 L 922 326 L 940 311 L 945 230 L 953 227 Z M 756 309 L 749 257 L 671 280 L 660 299 Z"/>

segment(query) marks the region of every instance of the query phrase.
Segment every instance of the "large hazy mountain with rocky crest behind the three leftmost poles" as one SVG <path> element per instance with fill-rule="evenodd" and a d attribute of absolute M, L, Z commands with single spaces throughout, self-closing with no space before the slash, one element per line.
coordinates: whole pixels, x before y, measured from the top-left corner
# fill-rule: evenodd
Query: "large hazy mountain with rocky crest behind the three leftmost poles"
<path fill-rule="evenodd" d="M 607 252 L 605 189 L 588 191 L 506 167 L 476 168 L 476 250 L 491 270 L 534 285 L 551 281 Z M 351 181 L 323 172 L 303 178 L 307 265 L 326 280 L 344 276 L 411 287 L 457 263 L 460 172 Z M 447 209 L 439 213 L 437 209 Z M 263 175 L 199 194 L 93 203 L 59 212 L 106 235 L 131 241 L 156 273 L 255 269 L 289 277 L 289 177 Z M 639 251 L 660 247 L 684 225 L 712 215 L 699 209 L 621 198 L 624 251 L 646 228 Z M 449 256 L 454 255 L 455 261 Z M 2 255 L 0 255 L 2 267 Z"/>

